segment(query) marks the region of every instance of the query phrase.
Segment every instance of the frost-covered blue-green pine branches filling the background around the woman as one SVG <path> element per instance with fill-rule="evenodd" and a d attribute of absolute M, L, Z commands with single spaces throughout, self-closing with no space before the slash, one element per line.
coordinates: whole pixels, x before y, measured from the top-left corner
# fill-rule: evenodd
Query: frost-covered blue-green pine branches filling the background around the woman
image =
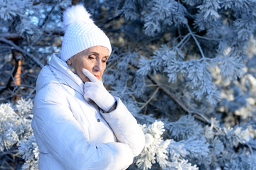
<path fill-rule="evenodd" d="M 37 42 L 47 35 L 46 28 L 60 26 L 60 9 L 72 3 L 56 2 L 45 5 L 42 13 L 52 13 L 48 18 L 33 13 L 38 4 L 47 3 L 44 1 L 17 10 L 10 10 L 17 6 L 16 1 L 0 5 L 4 11 L 1 32 L 30 35 L 26 33 L 29 29 L 22 33 L 14 29 L 21 23 L 16 16 L 38 21 L 33 27 L 42 32 L 24 37 L 19 46 L 45 63 L 46 56 L 60 48 Z M 112 40 L 105 84 L 122 98 L 144 130 L 146 146 L 129 169 L 255 169 L 254 0 L 80 2 Z M 26 15 L 18 14 L 27 8 Z M 13 21 L 11 26 L 9 21 Z M 27 83 L 31 85 L 31 81 Z M 33 95 L 30 91 L 21 96 Z M 29 101 L 19 101 L 25 102 Z M 0 106 L 0 114 L 5 115 L 1 147 L 6 150 L 18 145 L 26 160 L 23 169 L 31 169 L 36 167 L 38 149 L 27 126 L 28 113 L 24 129 L 30 133 L 16 128 L 21 127 L 19 106 Z M 12 131 L 6 128 L 13 126 L 11 122 L 16 122 Z"/>

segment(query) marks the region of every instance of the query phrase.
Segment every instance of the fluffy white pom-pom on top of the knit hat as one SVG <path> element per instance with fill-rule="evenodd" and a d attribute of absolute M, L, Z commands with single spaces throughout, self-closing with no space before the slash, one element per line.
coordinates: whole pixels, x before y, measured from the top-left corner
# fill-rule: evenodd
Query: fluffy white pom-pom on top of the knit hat
<path fill-rule="evenodd" d="M 67 30 L 71 23 L 93 23 L 90 18 L 90 13 L 88 13 L 84 6 L 76 5 L 67 8 L 63 14 L 63 28 L 64 31 Z"/>

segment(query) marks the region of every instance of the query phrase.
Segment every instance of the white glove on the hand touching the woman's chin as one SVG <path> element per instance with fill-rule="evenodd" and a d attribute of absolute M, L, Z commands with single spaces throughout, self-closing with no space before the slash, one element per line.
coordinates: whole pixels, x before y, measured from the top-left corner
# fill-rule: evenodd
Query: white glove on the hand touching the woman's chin
<path fill-rule="evenodd" d="M 102 81 L 98 80 L 92 73 L 87 69 L 82 69 L 82 73 L 85 74 L 90 81 L 85 82 L 84 86 L 84 98 L 92 99 L 97 106 L 102 108 L 103 111 L 110 111 L 110 108 L 116 102 L 114 97 L 105 89 Z"/>

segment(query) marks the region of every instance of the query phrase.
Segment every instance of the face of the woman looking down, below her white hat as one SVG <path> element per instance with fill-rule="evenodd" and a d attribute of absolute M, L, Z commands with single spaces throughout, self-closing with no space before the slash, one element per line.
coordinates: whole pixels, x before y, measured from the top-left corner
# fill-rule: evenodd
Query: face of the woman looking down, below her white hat
<path fill-rule="evenodd" d="M 106 69 L 108 58 L 109 50 L 107 47 L 95 46 L 74 55 L 67 61 L 67 63 L 71 64 L 75 69 L 76 74 L 78 74 L 78 77 L 85 83 L 86 81 L 90 81 L 90 79 L 82 73 L 82 69 L 89 70 L 89 72 L 100 80 Z"/>

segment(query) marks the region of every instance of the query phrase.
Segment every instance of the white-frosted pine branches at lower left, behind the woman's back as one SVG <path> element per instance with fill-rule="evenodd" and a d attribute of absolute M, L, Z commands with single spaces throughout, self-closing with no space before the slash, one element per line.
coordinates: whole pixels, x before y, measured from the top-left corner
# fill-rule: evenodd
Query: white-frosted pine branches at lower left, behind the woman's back
<path fill-rule="evenodd" d="M 0 151 L 16 145 L 25 160 L 22 169 L 38 169 L 39 150 L 31 128 L 32 108 L 31 99 L 25 101 L 23 98 L 15 106 L 10 103 L 0 105 Z"/>

